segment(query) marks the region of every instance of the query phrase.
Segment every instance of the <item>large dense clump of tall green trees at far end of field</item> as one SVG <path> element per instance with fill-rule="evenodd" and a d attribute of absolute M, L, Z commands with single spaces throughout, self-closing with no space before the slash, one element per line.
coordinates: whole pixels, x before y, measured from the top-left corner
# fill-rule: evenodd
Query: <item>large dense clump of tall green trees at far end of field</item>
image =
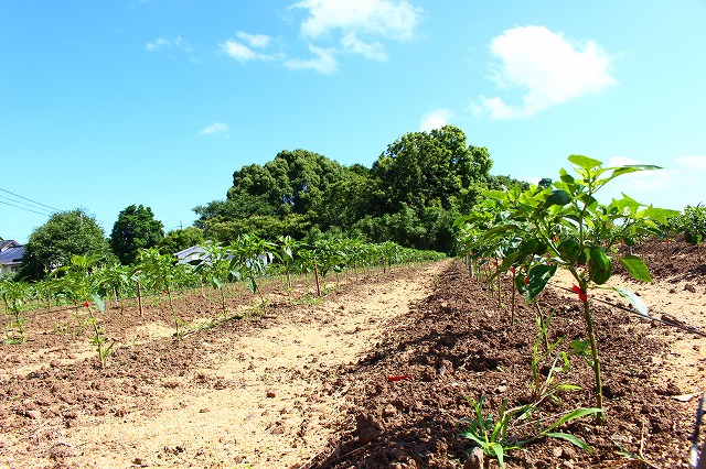
<path fill-rule="evenodd" d="M 225 200 L 194 208 L 194 225 L 221 242 L 248 232 L 302 239 L 336 231 L 451 252 L 454 218 L 473 207 L 481 189 L 514 184 L 490 175 L 491 167 L 488 150 L 467 144 L 452 126 L 404 134 L 372 168 L 282 151 L 236 171 Z"/>

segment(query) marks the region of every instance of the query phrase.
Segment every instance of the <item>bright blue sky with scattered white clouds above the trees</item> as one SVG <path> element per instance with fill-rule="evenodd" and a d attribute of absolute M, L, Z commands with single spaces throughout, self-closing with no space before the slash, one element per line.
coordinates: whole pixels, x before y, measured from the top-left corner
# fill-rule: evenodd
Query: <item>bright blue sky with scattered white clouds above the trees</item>
<path fill-rule="evenodd" d="M 131 204 L 188 226 L 281 150 L 370 166 L 445 123 L 493 174 L 579 153 L 665 168 L 605 196 L 706 203 L 704 24 L 702 0 L 0 0 L 0 237 L 76 207 L 109 234 Z"/>

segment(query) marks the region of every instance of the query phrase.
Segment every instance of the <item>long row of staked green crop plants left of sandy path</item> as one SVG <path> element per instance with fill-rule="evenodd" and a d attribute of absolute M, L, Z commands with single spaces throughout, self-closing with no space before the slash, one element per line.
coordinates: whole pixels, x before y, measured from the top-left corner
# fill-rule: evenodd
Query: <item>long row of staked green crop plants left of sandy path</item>
<path fill-rule="evenodd" d="M 171 254 L 156 249 L 141 250 L 133 265 L 98 265 L 97 258 L 74 255 L 68 265 L 55 269 L 45 280 L 28 283 L 9 277 L 0 280 L 0 297 L 4 308 L 4 341 L 25 340 L 25 321 L 32 314 L 46 314 L 58 308 L 74 310 L 79 324 L 93 329 L 100 363 L 105 366 L 111 345 L 104 339 L 99 313 L 105 301 L 111 299 L 122 310 L 126 298 L 135 298 L 142 314 L 142 298 L 167 295 L 175 337 L 184 334 L 184 321 L 174 307 L 174 294 L 189 288 L 208 287 L 217 292 L 222 312 L 227 320 L 226 286 L 244 282 L 265 308 L 259 283 L 263 279 L 281 275 L 291 299 L 291 276 L 311 274 L 317 296 L 321 296 L 321 280 L 334 272 L 387 269 L 395 264 L 436 260 L 443 254 L 403 248 L 394 242 L 366 243 L 354 239 L 321 239 L 312 246 L 281 237 L 269 241 L 256 236 L 242 236 L 229 246 L 207 242 L 201 247 L 197 260 L 180 263 Z M 85 312 L 85 313 L 84 313 Z M 87 318 L 82 323 L 82 316 Z"/>

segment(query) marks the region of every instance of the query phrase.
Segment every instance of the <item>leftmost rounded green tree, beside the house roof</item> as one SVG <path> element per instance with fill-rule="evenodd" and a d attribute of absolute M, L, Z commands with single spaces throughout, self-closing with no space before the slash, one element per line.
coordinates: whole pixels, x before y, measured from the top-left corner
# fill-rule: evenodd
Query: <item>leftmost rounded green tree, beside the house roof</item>
<path fill-rule="evenodd" d="M 95 218 L 79 208 L 60 211 L 30 234 L 18 276 L 42 280 L 53 270 L 68 265 L 73 255 L 90 254 L 98 262 L 114 259 Z"/>

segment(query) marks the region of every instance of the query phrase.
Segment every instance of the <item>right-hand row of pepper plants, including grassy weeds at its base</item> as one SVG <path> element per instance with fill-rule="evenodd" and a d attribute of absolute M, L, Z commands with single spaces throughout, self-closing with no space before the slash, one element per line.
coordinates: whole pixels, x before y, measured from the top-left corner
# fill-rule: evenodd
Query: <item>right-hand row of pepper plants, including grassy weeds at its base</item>
<path fill-rule="evenodd" d="M 471 400 L 475 415 L 464 425 L 463 436 L 472 439 L 485 455 L 496 457 L 501 466 L 504 466 L 504 452 L 545 436 L 563 438 L 588 449 L 578 438 L 555 429 L 587 415 L 593 415 L 597 423 L 605 422 L 600 343 L 591 317 L 591 305 L 597 299 L 591 291 L 612 291 L 630 302 L 631 312 L 656 319 L 650 316 L 648 306 L 633 292 L 608 286 L 613 274 L 613 258 L 635 280 L 651 282 L 648 266 L 633 252 L 638 251 L 640 241 L 650 237 L 665 238 L 677 231 L 683 232 L 692 244 L 698 246 L 706 239 L 706 211 L 700 206 L 687 207 L 680 214 L 645 206 L 624 194 L 608 205 L 596 198 L 596 193 L 612 179 L 657 167 L 603 167 L 600 161 L 582 155 L 571 155 L 568 161 L 577 176 L 561 168 L 558 179 L 543 179 L 524 190 L 517 187 L 488 190 L 485 200 L 456 222 L 459 252 L 466 255 L 470 275 L 496 287 L 492 291 L 498 292 L 499 304 L 501 282 L 512 281 L 512 296 L 507 299 L 511 327 L 517 297 L 535 305 L 532 309 L 537 312 L 537 339 L 531 360 L 533 402 L 515 408 L 506 408 L 503 404 L 500 415 L 493 418 L 483 415 L 482 399 Z M 548 340 L 552 314 L 543 314 L 539 307 L 539 294 L 558 269 L 567 270 L 574 280 L 570 292 L 581 305 L 586 326 L 585 339 L 571 341 L 561 351 L 561 339 Z M 534 436 L 521 441 L 509 440 L 513 425 L 543 415 L 543 403 L 558 403 L 559 393 L 578 389 L 557 379 L 559 373 L 570 374 L 574 357 L 580 358 L 579 361 L 592 371 L 595 407 L 569 410 L 558 421 L 548 421 L 550 425 L 537 422 Z M 549 370 L 545 375 L 538 372 L 544 366 Z"/>

